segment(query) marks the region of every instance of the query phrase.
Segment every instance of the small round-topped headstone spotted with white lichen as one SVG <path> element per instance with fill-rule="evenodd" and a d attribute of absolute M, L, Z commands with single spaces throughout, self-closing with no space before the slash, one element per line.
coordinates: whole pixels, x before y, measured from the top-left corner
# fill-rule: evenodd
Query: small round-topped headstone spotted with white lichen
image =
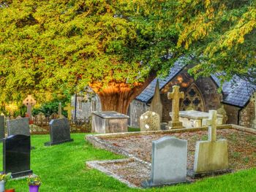
<path fill-rule="evenodd" d="M 147 111 L 140 116 L 140 131 L 159 131 L 160 117 L 157 112 Z"/>

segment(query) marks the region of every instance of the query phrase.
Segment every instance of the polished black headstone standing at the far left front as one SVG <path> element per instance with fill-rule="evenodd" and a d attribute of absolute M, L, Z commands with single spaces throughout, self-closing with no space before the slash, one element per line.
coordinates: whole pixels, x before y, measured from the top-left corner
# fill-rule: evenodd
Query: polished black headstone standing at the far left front
<path fill-rule="evenodd" d="M 12 178 L 32 174 L 30 169 L 30 136 L 11 135 L 4 139 L 4 173 Z"/>

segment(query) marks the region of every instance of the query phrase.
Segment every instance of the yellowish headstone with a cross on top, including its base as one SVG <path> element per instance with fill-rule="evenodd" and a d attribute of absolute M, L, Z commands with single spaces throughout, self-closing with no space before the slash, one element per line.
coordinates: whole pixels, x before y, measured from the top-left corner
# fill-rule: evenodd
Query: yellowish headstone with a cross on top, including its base
<path fill-rule="evenodd" d="M 192 177 L 230 172 L 228 169 L 227 140 L 217 140 L 217 111 L 209 111 L 208 141 L 200 141 L 195 146 L 194 172 Z"/>

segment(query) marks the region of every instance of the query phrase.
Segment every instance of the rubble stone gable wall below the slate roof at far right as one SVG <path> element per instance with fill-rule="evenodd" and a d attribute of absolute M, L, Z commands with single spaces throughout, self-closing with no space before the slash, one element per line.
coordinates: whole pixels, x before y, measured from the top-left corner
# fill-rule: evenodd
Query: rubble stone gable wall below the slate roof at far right
<path fill-rule="evenodd" d="M 255 104 L 252 101 L 239 112 L 239 125 L 252 128 L 252 121 L 255 119 Z"/>

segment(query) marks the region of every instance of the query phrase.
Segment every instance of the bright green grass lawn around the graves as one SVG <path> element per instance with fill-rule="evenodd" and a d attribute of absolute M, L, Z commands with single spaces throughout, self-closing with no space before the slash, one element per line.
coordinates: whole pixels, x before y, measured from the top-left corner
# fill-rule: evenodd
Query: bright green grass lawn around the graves
<path fill-rule="evenodd" d="M 256 169 L 235 174 L 211 177 L 190 185 L 176 185 L 146 190 L 130 189 L 118 180 L 95 169 L 86 168 L 86 161 L 123 158 L 106 150 L 99 150 L 84 140 L 85 134 L 72 134 L 75 142 L 45 147 L 48 135 L 33 135 L 31 169 L 42 177 L 40 192 L 71 191 L 256 191 Z M 16 192 L 29 191 L 26 180 L 11 180 L 7 188 Z"/>

